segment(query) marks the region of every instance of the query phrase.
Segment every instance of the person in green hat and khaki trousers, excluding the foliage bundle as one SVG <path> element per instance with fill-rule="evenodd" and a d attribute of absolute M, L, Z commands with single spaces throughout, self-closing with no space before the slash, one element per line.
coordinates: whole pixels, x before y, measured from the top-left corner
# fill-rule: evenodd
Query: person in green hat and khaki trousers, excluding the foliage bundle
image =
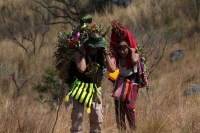
<path fill-rule="evenodd" d="M 101 79 L 98 80 L 98 78 L 102 77 L 104 66 L 110 72 L 115 70 L 114 60 L 104 49 L 105 44 L 105 39 L 102 36 L 92 34 L 75 52 L 74 58 L 76 67 L 74 67 L 74 75 L 76 81 L 74 82 L 73 88 L 76 87 L 79 89 L 77 93 L 83 92 L 84 89 L 87 90 L 87 87 L 92 87 L 95 93 L 100 94 Z M 82 87 L 84 87 L 84 89 Z M 83 102 L 90 97 L 89 94 L 83 97 Z M 73 109 L 71 113 L 72 127 L 70 129 L 72 133 L 79 133 L 82 131 L 84 105 L 80 102 L 80 98 L 82 97 L 79 96 L 77 100 L 73 100 Z M 100 133 L 103 121 L 102 103 L 99 99 L 95 100 L 95 97 L 91 100 L 91 113 L 89 116 L 90 133 Z"/>

